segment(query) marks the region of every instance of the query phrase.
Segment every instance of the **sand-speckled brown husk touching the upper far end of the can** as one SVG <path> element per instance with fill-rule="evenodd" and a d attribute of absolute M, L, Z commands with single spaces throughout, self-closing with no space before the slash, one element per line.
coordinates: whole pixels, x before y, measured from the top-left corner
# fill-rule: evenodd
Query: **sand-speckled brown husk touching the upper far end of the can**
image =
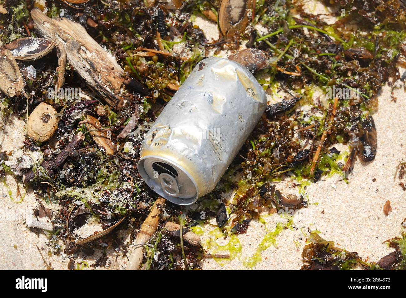
<path fill-rule="evenodd" d="M 251 73 L 264 69 L 268 65 L 268 58 L 266 54 L 254 48 L 244 49 L 229 56 L 230 60 L 240 63 L 246 69 L 251 71 Z"/>

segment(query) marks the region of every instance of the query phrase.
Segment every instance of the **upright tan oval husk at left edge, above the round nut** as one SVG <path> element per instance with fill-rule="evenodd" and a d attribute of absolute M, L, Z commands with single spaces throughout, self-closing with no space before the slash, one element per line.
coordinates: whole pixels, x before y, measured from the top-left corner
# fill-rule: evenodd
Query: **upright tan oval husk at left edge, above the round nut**
<path fill-rule="evenodd" d="M 17 62 L 8 49 L 0 47 L 0 89 L 10 97 L 20 95 L 24 81 Z"/>

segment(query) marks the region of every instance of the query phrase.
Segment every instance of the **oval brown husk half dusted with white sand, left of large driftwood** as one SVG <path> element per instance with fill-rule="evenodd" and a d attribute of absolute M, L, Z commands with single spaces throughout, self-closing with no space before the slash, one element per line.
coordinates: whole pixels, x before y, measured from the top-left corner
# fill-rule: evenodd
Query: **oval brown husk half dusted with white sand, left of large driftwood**
<path fill-rule="evenodd" d="M 55 45 L 49 39 L 25 37 L 8 43 L 4 47 L 10 50 L 17 60 L 36 60 L 52 51 Z"/>

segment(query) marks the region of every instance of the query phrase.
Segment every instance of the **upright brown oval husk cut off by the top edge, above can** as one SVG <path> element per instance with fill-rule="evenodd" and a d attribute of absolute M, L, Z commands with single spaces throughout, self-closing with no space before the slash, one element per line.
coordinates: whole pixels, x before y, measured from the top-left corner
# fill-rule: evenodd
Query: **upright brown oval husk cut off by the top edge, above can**
<path fill-rule="evenodd" d="M 225 36 L 241 33 L 252 17 L 253 0 L 222 0 L 218 10 L 218 26 Z"/>

